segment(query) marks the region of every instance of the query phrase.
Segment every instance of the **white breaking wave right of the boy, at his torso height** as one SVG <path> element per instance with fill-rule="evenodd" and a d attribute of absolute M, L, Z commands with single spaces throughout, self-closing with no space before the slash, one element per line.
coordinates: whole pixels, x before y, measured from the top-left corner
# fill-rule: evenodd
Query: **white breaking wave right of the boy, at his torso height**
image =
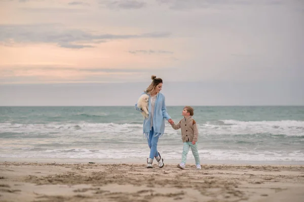
<path fill-rule="evenodd" d="M 249 121 L 220 120 L 200 125 L 200 132 L 208 135 L 244 135 L 244 134 L 272 134 L 286 136 L 304 136 L 304 122 L 298 120 L 279 121 Z"/>

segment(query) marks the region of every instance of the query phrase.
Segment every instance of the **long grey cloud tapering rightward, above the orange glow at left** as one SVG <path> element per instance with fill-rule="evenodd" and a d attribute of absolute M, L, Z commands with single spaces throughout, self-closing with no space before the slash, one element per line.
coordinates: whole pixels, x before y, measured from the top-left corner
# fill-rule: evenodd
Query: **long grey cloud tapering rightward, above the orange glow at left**
<path fill-rule="evenodd" d="M 142 34 L 92 34 L 81 29 L 69 29 L 60 24 L 0 25 L 0 43 L 50 43 L 59 47 L 92 48 L 90 44 L 104 43 L 115 39 L 162 38 L 168 32 Z M 88 45 L 89 44 L 89 45 Z"/>

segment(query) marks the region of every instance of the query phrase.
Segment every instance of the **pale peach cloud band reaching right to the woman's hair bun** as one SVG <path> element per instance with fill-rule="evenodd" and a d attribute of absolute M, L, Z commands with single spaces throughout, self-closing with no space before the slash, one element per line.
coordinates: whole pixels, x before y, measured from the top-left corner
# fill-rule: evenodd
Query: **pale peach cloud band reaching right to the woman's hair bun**
<path fill-rule="evenodd" d="M 167 68 L 163 68 L 163 70 Z M 74 68 L 60 65 L 2 66 L 0 67 L 0 85 L 32 83 L 103 83 L 132 81 L 134 76 L 141 80 L 149 77 L 151 69 L 126 68 Z M 154 72 L 160 70 L 155 69 Z"/>

